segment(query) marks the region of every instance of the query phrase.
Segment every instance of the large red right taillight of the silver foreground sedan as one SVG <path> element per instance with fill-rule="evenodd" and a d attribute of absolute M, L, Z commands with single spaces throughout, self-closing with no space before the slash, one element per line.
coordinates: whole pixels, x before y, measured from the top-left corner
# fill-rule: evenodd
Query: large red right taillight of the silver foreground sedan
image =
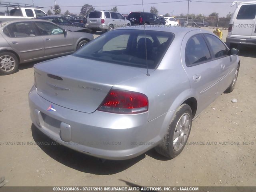
<path fill-rule="evenodd" d="M 138 92 L 112 89 L 98 110 L 121 114 L 142 113 L 148 110 L 148 97 Z"/>

